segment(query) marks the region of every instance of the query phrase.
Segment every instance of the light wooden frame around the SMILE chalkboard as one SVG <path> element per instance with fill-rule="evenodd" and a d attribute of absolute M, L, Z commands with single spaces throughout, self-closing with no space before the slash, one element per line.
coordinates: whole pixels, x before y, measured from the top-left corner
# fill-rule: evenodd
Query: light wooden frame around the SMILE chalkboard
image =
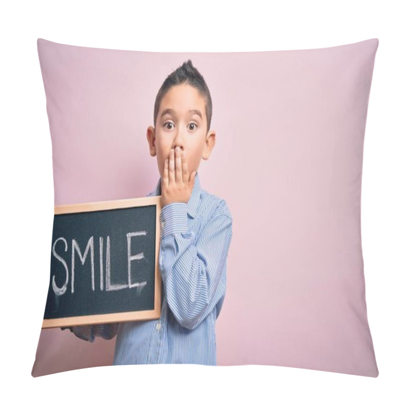
<path fill-rule="evenodd" d="M 159 319 L 161 314 L 161 275 L 158 265 L 161 197 L 149 196 L 141 198 L 118 199 L 112 201 L 76 203 L 54 207 L 54 215 L 106 211 L 121 208 L 134 208 L 155 205 L 156 206 L 156 233 L 155 233 L 155 284 L 154 284 L 154 309 L 134 312 L 118 312 L 100 315 L 72 316 L 55 319 L 43 319 L 42 329 L 64 326 L 79 326 L 93 323 L 115 323 L 134 320 Z"/>

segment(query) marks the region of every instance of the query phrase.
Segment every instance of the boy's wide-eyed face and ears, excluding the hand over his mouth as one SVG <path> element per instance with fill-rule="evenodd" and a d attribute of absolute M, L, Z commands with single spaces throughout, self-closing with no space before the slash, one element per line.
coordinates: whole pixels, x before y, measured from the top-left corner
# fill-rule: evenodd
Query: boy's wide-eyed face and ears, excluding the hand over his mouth
<path fill-rule="evenodd" d="M 160 103 L 155 128 L 148 127 L 147 139 L 161 178 L 165 160 L 176 147 L 186 155 L 189 176 L 198 171 L 201 158 L 208 159 L 215 145 L 215 131 L 207 135 L 205 100 L 198 90 L 188 84 L 171 87 Z"/>

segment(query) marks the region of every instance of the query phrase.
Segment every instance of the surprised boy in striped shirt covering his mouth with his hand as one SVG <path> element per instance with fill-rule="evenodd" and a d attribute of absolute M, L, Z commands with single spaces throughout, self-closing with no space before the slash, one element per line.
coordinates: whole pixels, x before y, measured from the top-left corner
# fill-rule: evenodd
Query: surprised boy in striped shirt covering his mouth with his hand
<path fill-rule="evenodd" d="M 188 60 L 162 84 L 155 128 L 147 130 L 160 174 L 147 196 L 161 195 L 161 317 L 70 328 L 91 342 L 117 335 L 113 364 L 216 365 L 215 322 L 226 292 L 232 217 L 226 201 L 199 183 L 201 158 L 215 145 L 211 117 L 208 87 Z"/>

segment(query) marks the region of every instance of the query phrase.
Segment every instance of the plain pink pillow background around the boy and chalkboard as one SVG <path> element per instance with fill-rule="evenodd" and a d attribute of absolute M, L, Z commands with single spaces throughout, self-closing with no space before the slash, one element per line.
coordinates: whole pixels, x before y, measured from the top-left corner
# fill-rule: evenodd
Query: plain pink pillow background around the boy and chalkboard
<path fill-rule="evenodd" d="M 212 95 L 216 132 L 198 171 L 201 187 L 226 201 L 233 221 L 217 364 L 377 377 L 360 201 L 378 44 L 161 53 L 39 38 L 54 205 L 144 197 L 157 188 L 147 142 L 155 97 L 191 59 Z M 32 375 L 111 365 L 115 342 L 43 329 Z"/>

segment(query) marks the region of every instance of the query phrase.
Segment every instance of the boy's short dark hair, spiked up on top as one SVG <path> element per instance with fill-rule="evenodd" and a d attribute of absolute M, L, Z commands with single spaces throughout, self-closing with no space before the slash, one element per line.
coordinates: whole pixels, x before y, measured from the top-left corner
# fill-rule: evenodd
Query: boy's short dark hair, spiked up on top
<path fill-rule="evenodd" d="M 182 66 L 174 70 L 163 82 L 158 94 L 155 98 L 154 105 L 154 127 L 156 124 L 156 119 L 158 115 L 159 105 L 161 104 L 163 96 L 167 91 L 179 84 L 189 84 L 190 86 L 196 88 L 205 100 L 205 110 L 207 115 L 207 133 L 211 127 L 212 118 L 212 99 L 211 93 L 209 92 L 207 83 L 203 79 L 201 73 L 192 65 L 191 59 L 185 61 Z"/>

